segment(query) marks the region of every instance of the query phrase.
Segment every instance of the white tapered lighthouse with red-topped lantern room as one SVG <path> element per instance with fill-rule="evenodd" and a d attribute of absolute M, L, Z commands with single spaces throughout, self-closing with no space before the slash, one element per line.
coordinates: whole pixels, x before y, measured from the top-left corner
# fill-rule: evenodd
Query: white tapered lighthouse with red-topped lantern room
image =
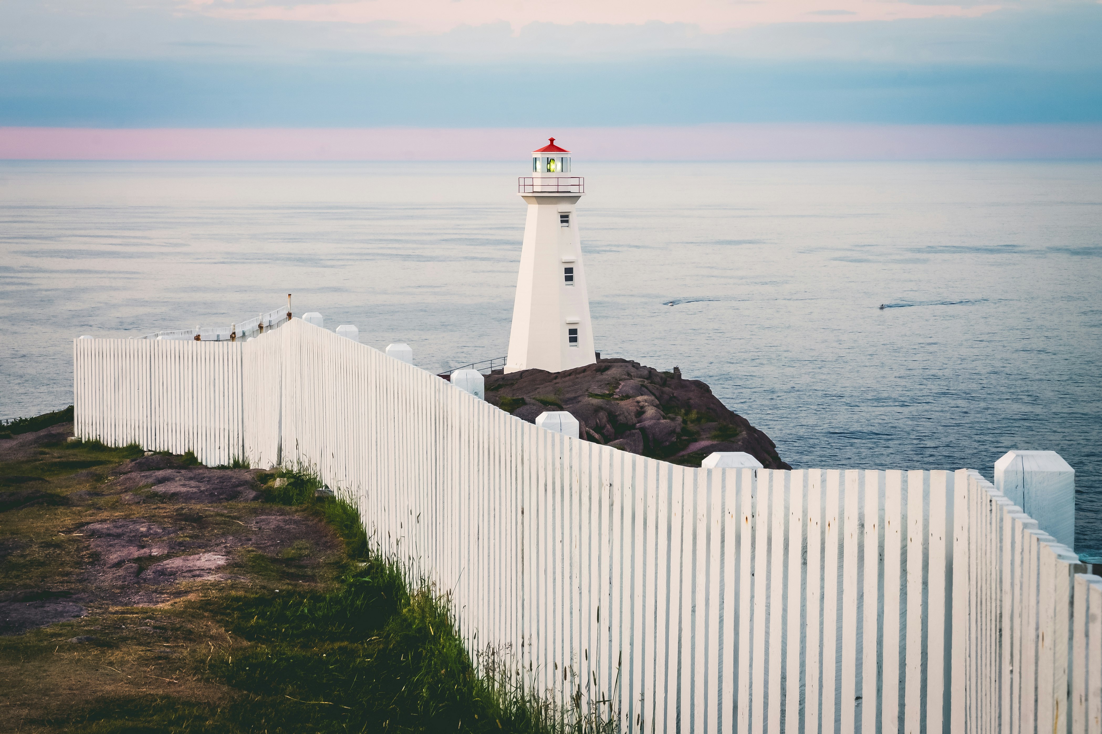
<path fill-rule="evenodd" d="M 571 153 L 554 138 L 532 151 L 531 164 L 517 182 L 528 218 L 505 371 L 561 372 L 596 361 L 574 211 L 585 179 L 570 175 Z"/>

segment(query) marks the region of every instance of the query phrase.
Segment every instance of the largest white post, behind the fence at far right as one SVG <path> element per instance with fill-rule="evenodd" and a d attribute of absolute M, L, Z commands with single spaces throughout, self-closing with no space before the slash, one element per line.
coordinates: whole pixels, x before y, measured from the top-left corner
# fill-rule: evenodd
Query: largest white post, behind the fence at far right
<path fill-rule="evenodd" d="M 1007 451 L 995 462 L 995 489 L 1044 532 L 1076 547 L 1076 470 L 1056 451 Z"/>

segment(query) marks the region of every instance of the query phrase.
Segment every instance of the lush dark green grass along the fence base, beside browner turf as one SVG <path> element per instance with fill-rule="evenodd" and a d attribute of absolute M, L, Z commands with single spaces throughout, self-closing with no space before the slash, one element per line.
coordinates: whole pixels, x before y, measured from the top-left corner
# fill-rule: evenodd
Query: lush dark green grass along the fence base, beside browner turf
<path fill-rule="evenodd" d="M 285 487 L 316 478 L 280 471 Z M 503 695 L 475 675 L 446 598 L 413 591 L 372 552 L 356 510 L 311 489 L 271 494 L 323 518 L 345 545 L 344 571 L 329 589 L 233 593 L 194 611 L 236 640 L 193 665 L 228 687 L 231 703 L 173 697 L 100 701 L 67 723 L 87 734 L 144 732 L 540 732 L 543 709 Z"/>

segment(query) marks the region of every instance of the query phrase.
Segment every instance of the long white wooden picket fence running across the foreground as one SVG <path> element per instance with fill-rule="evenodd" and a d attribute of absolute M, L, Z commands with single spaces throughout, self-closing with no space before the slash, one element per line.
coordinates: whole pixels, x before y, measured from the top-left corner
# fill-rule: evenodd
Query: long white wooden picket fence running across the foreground
<path fill-rule="evenodd" d="M 973 471 L 677 467 L 299 319 L 74 358 L 77 436 L 314 468 L 563 715 L 1102 733 L 1102 579 Z"/>

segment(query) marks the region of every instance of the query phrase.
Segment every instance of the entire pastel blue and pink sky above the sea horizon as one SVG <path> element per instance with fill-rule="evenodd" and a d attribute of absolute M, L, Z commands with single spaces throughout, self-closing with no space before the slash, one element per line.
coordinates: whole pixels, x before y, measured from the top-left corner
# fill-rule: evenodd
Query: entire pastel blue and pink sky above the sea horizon
<path fill-rule="evenodd" d="M 871 129 L 918 157 L 1098 157 L 1100 37 L 1095 0 L 0 0 L 0 157 L 310 157 L 338 130 L 347 157 L 462 157 L 439 131 L 640 129 L 659 157 L 699 156 L 693 131 L 844 156 Z"/>

